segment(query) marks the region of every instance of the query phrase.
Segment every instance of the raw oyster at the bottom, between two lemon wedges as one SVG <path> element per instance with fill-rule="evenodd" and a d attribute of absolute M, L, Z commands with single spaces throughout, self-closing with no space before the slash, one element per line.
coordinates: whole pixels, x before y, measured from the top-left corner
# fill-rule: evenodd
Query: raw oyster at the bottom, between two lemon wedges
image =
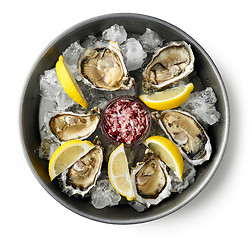
<path fill-rule="evenodd" d="M 150 149 L 146 150 L 144 161 L 131 169 L 131 180 L 135 200 L 147 207 L 158 204 L 171 193 L 167 165 Z"/>

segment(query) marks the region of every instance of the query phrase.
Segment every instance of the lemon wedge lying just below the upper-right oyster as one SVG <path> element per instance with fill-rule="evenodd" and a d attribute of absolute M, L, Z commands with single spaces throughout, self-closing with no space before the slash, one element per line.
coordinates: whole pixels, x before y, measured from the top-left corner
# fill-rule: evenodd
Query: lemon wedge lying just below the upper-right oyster
<path fill-rule="evenodd" d="M 168 110 L 184 103 L 193 88 L 193 84 L 189 83 L 185 86 L 170 88 L 161 92 L 139 95 L 139 98 L 152 109 Z"/>

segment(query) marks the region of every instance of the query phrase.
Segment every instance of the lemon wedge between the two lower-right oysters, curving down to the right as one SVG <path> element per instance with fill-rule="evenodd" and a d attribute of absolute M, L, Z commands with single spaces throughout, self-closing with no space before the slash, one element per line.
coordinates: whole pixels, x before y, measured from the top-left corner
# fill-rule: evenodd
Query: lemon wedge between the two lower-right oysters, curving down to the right
<path fill-rule="evenodd" d="M 183 157 L 178 147 L 169 139 L 161 136 L 152 136 L 143 141 L 143 144 L 158 154 L 163 162 L 173 170 L 181 180 L 184 168 Z"/>

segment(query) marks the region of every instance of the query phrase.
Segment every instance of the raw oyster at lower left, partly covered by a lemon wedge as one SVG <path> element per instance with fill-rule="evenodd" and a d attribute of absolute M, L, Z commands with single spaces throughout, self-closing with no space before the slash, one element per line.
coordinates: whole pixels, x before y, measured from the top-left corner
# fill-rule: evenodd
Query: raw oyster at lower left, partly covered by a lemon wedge
<path fill-rule="evenodd" d="M 95 186 L 101 174 L 103 148 L 98 136 L 93 143 L 95 147 L 92 150 L 59 176 L 62 191 L 69 196 L 84 197 Z"/>

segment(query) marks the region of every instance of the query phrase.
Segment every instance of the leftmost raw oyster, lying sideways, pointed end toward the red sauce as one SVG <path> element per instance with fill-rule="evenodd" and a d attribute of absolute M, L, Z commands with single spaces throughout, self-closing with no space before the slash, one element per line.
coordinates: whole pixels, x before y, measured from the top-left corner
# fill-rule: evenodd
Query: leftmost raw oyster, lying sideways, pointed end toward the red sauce
<path fill-rule="evenodd" d="M 73 139 L 86 139 L 97 128 L 100 121 L 100 109 L 77 114 L 73 112 L 49 112 L 45 117 L 48 135 L 54 141 L 62 143 Z"/>

